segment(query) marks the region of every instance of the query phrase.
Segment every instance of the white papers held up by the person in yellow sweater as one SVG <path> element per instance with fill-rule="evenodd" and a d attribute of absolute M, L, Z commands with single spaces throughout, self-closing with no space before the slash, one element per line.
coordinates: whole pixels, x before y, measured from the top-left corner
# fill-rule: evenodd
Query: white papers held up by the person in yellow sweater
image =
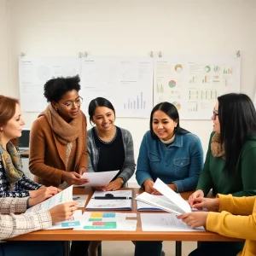
<path fill-rule="evenodd" d="M 170 189 L 166 183 L 163 183 L 160 178 L 155 181 L 153 188 L 157 189 L 162 195 L 165 195 L 166 199 L 143 192 L 143 194 L 137 196 L 136 200 L 143 201 L 148 205 L 158 207 L 166 212 L 173 212 L 177 215 L 184 212 L 192 212 L 189 203 Z"/>

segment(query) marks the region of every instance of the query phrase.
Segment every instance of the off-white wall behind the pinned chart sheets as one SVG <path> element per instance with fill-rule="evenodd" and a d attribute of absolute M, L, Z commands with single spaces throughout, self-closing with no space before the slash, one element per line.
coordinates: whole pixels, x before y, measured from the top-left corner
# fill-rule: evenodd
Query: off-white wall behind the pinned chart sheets
<path fill-rule="evenodd" d="M 20 52 L 148 56 L 153 50 L 154 55 L 201 56 L 235 55 L 240 49 L 241 92 L 254 96 L 255 0 L 0 0 L 0 14 L 0 91 L 6 95 L 19 96 Z M 26 126 L 37 115 L 24 113 Z M 137 157 L 148 119 L 117 119 L 116 124 L 131 131 Z M 182 120 L 181 125 L 207 149 L 211 120 Z"/>

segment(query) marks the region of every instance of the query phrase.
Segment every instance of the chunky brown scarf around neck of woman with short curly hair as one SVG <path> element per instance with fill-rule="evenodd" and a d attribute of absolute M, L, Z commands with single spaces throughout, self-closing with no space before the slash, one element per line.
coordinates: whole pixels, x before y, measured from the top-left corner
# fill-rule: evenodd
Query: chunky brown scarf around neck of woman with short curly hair
<path fill-rule="evenodd" d="M 51 104 L 38 117 L 42 115 L 48 120 L 50 128 L 55 132 L 55 137 L 64 145 L 73 142 L 83 132 L 81 111 L 79 111 L 78 118 L 73 119 L 69 123 L 61 118 Z"/>

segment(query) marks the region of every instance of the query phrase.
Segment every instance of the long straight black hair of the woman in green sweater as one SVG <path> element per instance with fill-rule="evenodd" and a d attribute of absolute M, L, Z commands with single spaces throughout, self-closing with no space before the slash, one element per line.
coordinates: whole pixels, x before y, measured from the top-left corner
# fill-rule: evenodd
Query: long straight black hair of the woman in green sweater
<path fill-rule="evenodd" d="M 256 135 L 256 111 L 245 94 L 229 93 L 218 97 L 220 143 L 224 143 L 224 172 L 236 171 L 241 148 L 248 137 Z"/>

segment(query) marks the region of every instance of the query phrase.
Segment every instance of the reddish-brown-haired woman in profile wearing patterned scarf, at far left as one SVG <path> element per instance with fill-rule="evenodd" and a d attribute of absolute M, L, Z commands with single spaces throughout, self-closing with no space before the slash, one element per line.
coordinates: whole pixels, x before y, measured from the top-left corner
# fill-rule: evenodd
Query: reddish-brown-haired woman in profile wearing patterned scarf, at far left
<path fill-rule="evenodd" d="M 37 197 L 49 192 L 55 195 L 59 192 L 57 188 L 42 187 L 22 172 L 20 154 L 13 140 L 21 136 L 23 125 L 19 101 L 0 96 L 0 197 Z"/>

